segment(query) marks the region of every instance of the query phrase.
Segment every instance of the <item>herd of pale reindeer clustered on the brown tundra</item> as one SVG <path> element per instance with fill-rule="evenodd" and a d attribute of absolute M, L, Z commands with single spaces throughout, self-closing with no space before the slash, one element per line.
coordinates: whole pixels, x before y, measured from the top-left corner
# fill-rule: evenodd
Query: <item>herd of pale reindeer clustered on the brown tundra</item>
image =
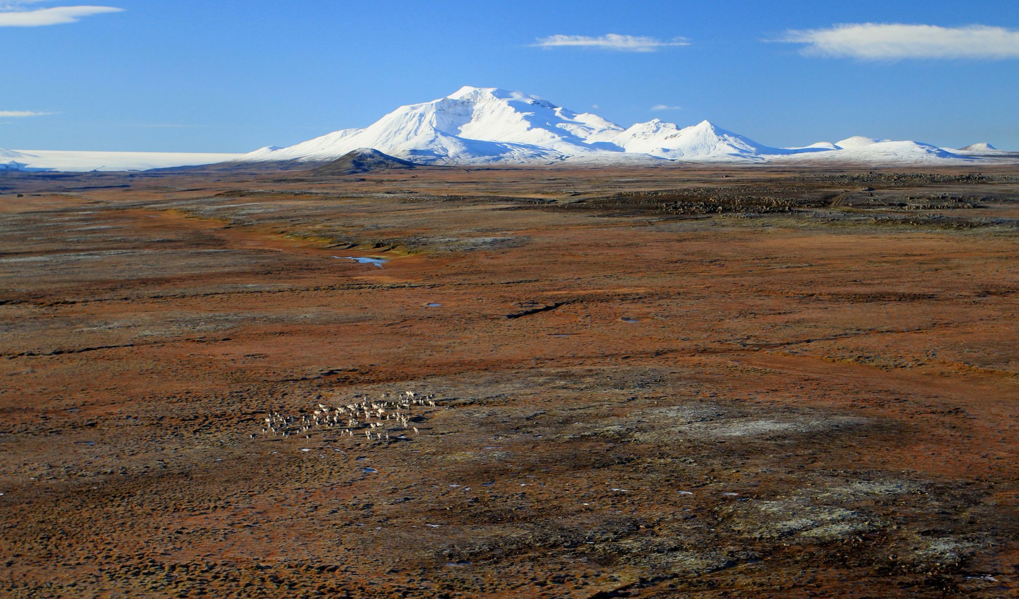
<path fill-rule="evenodd" d="M 382 393 L 376 399 L 359 394 L 354 395 L 351 403 L 334 406 L 319 403 L 310 415 L 286 416 L 273 412 L 265 418 L 261 434 L 281 436 L 284 439 L 304 435 L 306 439 L 311 439 L 313 431 L 324 430 L 348 437 L 364 434 L 368 441 L 389 441 L 390 433 L 397 439 L 406 439 L 406 434 L 410 434 L 411 430 L 415 435 L 420 434 L 418 427 L 412 424 L 421 420 L 420 416 L 413 414 L 414 410 L 436 406 L 434 393 Z M 254 439 L 259 433 L 249 436 Z"/>

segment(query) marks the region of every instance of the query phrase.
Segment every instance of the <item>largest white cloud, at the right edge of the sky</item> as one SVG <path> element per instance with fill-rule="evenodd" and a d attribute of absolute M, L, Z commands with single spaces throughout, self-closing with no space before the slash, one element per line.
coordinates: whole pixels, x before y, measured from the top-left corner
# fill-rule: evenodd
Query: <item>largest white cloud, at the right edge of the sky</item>
<path fill-rule="evenodd" d="M 806 44 L 802 53 L 866 60 L 898 58 L 1019 58 L 1019 30 L 988 25 L 855 23 L 790 31 L 780 42 Z"/>

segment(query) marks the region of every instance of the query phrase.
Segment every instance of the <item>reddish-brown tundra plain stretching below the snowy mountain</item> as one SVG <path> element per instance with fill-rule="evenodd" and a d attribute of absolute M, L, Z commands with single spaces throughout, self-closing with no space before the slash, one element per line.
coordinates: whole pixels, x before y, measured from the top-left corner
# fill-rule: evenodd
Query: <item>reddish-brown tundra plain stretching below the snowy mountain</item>
<path fill-rule="evenodd" d="M 1005 166 L 0 173 L 0 595 L 1014 596 L 1017 223 Z"/>

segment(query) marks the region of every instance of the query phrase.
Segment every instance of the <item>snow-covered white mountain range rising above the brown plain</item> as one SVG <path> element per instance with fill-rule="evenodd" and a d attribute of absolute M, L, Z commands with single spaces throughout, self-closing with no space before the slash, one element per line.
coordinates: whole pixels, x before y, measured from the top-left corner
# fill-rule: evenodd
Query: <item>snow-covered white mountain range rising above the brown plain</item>
<path fill-rule="evenodd" d="M 849 138 L 772 148 L 708 121 L 680 127 L 653 119 L 624 128 L 535 96 L 465 87 L 431 102 L 401 106 L 362 129 L 341 129 L 288 148 L 266 147 L 240 161 L 328 162 L 373 148 L 419 164 L 591 162 L 972 161 L 991 151 L 955 154 L 928 144 Z M 643 159 L 643 160 L 642 160 Z"/>

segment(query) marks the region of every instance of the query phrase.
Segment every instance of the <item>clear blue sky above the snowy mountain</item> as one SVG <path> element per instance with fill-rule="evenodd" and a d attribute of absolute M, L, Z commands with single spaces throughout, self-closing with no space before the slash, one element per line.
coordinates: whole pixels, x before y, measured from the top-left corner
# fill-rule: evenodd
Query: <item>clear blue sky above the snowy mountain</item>
<path fill-rule="evenodd" d="M 90 4 L 122 10 L 0 0 L 16 13 L 0 12 L 0 148 L 246 152 L 471 85 L 623 125 L 706 118 L 771 146 L 1019 150 L 1015 0 Z"/>

